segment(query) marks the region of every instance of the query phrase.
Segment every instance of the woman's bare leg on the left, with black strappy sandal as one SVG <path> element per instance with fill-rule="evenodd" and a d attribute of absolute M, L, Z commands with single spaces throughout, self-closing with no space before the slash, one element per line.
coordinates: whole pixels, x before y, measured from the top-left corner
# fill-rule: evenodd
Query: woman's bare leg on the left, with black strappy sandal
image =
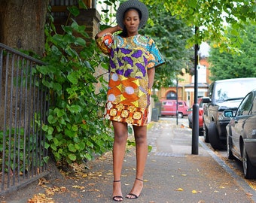
<path fill-rule="evenodd" d="M 114 183 L 113 183 L 113 197 L 116 201 L 121 201 L 123 198 L 118 196 L 123 196 L 121 191 L 121 171 L 123 167 L 123 158 L 125 155 L 126 141 L 128 138 L 128 129 L 126 123 L 119 123 L 113 121 L 114 126 L 114 146 L 113 146 L 113 173 L 114 173 Z"/>

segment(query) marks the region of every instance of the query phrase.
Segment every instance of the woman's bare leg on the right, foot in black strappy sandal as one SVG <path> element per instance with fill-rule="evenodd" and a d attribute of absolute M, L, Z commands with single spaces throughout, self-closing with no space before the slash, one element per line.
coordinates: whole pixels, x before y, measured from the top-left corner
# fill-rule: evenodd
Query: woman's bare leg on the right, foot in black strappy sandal
<path fill-rule="evenodd" d="M 136 141 L 136 180 L 130 192 L 133 195 L 126 195 L 127 198 L 136 198 L 142 192 L 143 174 L 148 157 L 147 126 L 133 126 L 133 131 Z"/>

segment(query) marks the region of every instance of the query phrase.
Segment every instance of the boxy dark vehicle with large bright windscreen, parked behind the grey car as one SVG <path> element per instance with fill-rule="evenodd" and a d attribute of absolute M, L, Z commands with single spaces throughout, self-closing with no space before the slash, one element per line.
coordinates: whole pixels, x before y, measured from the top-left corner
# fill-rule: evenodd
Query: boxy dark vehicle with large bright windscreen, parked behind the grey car
<path fill-rule="evenodd" d="M 209 97 L 203 98 L 204 139 L 214 150 L 227 148 L 226 126 L 230 118 L 224 117 L 223 111 L 236 111 L 242 98 L 255 86 L 256 77 L 216 80 L 209 86 Z"/>

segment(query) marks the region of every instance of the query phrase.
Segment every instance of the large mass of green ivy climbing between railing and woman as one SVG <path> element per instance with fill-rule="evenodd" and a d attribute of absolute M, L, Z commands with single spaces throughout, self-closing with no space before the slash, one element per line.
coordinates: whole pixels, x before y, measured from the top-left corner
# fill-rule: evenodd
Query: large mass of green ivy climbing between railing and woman
<path fill-rule="evenodd" d="M 78 8 L 69 11 L 74 16 L 79 14 Z M 95 77 L 97 66 L 107 67 L 105 57 L 97 52 L 85 26 L 72 19 L 70 26 L 62 29 L 59 35 L 53 20 L 46 23 L 43 60 L 47 65 L 37 70 L 44 75 L 44 86 L 50 89 L 47 123 L 42 126 L 45 146 L 63 165 L 105 153 L 111 149 L 113 137 L 108 121 L 102 118 L 106 82 L 102 75 Z M 96 89 L 96 83 L 101 83 L 102 88 Z"/>

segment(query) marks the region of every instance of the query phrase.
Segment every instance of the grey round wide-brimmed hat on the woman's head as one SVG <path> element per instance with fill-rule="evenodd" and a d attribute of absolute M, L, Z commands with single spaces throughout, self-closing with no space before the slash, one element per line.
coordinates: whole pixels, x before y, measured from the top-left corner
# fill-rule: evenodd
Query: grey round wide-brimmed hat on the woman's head
<path fill-rule="evenodd" d="M 120 5 L 120 7 L 117 9 L 117 24 L 123 29 L 123 14 L 128 8 L 136 8 L 139 11 L 142 12 L 142 19 L 139 23 L 139 28 L 142 28 L 145 26 L 148 20 L 148 8 L 145 4 L 142 2 L 139 2 L 138 0 L 129 0 L 127 2 L 123 2 L 123 4 Z"/>

